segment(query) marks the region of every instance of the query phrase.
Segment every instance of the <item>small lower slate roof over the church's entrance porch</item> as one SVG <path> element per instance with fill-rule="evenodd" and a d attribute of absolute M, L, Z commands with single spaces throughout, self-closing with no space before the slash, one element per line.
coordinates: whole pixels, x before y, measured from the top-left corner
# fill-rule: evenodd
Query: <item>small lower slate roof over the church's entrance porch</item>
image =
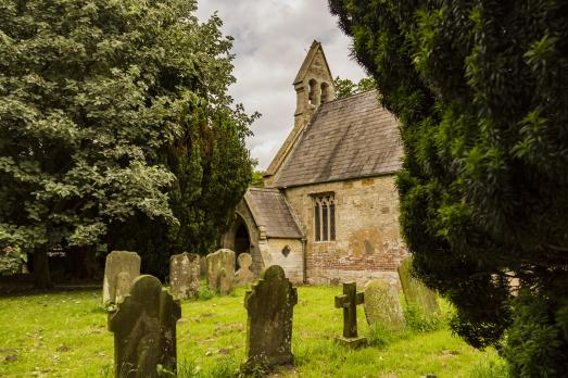
<path fill-rule="evenodd" d="M 278 189 L 249 188 L 244 201 L 257 226 L 266 227 L 272 238 L 302 238 L 286 198 Z"/>

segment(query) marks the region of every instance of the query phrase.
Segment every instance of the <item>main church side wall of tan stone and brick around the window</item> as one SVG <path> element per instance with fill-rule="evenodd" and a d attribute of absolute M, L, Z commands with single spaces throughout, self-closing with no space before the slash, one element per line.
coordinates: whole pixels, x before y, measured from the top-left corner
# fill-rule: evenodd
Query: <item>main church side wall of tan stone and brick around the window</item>
<path fill-rule="evenodd" d="M 335 193 L 336 241 L 315 241 L 313 196 Z M 396 267 L 407 251 L 399 226 L 394 176 L 316 184 L 286 189 L 307 238 L 310 284 L 362 285 L 382 278 L 400 287 Z"/>

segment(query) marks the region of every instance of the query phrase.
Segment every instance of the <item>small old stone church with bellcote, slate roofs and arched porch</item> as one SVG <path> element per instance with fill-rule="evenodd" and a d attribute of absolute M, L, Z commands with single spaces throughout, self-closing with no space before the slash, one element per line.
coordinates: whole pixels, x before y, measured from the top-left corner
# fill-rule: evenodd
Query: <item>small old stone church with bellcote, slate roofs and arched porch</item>
<path fill-rule="evenodd" d="M 396 118 L 376 91 L 336 99 L 314 41 L 293 81 L 294 127 L 264 177 L 236 210 L 222 244 L 249 252 L 253 270 L 278 264 L 295 282 L 399 286 L 407 250 L 394 174 L 403 155 Z"/>

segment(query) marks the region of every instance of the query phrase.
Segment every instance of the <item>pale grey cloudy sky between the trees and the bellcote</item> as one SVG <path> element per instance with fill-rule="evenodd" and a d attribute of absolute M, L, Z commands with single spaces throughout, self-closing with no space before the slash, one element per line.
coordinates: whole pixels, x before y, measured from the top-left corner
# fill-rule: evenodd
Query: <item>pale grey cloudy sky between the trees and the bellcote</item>
<path fill-rule="evenodd" d="M 350 59 L 350 39 L 337 26 L 327 0 L 199 0 L 198 16 L 218 11 L 225 35 L 235 38 L 232 52 L 236 102 L 262 118 L 252 126 L 247 146 L 265 169 L 293 126 L 292 80 L 314 39 L 324 47 L 331 74 L 358 80 L 363 70 Z"/>

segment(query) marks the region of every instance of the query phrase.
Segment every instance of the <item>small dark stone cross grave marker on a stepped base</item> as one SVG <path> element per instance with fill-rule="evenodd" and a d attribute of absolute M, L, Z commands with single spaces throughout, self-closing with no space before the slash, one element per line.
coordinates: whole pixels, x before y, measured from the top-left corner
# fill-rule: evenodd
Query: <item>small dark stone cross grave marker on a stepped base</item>
<path fill-rule="evenodd" d="M 343 295 L 336 297 L 336 308 L 343 308 L 343 336 L 337 340 L 352 348 L 363 346 L 367 343 L 365 337 L 357 335 L 357 305 L 363 304 L 365 295 L 357 292 L 355 282 L 343 284 Z"/>

